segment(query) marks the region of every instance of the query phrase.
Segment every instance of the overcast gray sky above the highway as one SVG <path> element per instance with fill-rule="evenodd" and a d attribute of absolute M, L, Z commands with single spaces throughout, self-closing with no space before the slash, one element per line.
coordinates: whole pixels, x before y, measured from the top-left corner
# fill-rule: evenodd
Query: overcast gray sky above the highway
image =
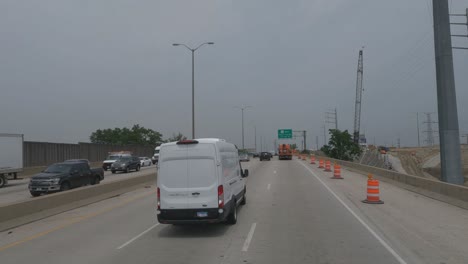
<path fill-rule="evenodd" d="M 190 135 L 191 56 L 171 44 L 213 41 L 195 58 L 197 137 L 240 145 L 240 105 L 252 106 L 246 147 L 254 125 L 259 146 L 262 136 L 272 148 L 278 128 L 306 129 L 309 145 L 322 144 L 324 112 L 335 107 L 352 132 L 365 46 L 361 132 L 416 145 L 416 112 L 437 111 L 431 2 L 2 0 L 0 132 L 75 143 L 138 123 Z M 452 13 L 467 7 L 451 1 Z M 454 66 L 468 133 L 468 51 L 454 51 Z"/>

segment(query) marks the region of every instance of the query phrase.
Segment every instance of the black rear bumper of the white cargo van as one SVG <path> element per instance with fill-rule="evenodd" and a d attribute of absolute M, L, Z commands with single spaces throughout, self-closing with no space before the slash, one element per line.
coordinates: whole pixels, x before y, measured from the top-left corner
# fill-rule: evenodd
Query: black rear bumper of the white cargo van
<path fill-rule="evenodd" d="M 158 214 L 158 222 L 161 224 L 196 224 L 196 223 L 220 223 L 224 222 L 231 212 L 232 203 L 224 206 L 223 212 L 218 208 L 199 209 L 162 209 Z M 206 212 L 206 217 L 199 217 L 197 213 Z"/>

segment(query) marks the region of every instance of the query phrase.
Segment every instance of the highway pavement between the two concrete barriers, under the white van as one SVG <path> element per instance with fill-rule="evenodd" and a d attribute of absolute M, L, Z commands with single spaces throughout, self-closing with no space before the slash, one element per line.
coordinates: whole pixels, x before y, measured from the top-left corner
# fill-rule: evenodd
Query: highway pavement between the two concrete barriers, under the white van
<path fill-rule="evenodd" d="M 253 160 L 236 225 L 163 225 L 155 187 L 0 233 L 9 263 L 466 263 L 466 210 L 305 161 Z M 407 200 L 411 199 L 411 200 Z M 445 222 L 440 221 L 444 214 Z M 439 215 L 439 216 L 438 216 Z M 448 216 L 447 216 L 448 215 Z"/>

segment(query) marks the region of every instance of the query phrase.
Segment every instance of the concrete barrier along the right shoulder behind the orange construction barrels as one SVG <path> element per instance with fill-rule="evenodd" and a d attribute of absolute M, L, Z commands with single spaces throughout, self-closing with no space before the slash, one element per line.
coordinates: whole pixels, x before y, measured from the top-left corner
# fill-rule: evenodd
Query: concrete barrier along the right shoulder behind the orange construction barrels
<path fill-rule="evenodd" d="M 466 186 L 426 179 L 349 161 L 327 159 L 359 173 L 371 173 L 381 181 L 391 182 L 401 188 L 468 209 L 468 187 Z"/>

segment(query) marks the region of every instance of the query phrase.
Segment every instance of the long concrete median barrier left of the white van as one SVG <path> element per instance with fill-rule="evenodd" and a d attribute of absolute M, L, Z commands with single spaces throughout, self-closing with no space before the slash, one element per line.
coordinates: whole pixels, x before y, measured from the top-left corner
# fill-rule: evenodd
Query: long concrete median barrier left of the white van
<path fill-rule="evenodd" d="M 0 231 L 105 200 L 156 183 L 156 173 L 49 194 L 0 206 Z"/>

